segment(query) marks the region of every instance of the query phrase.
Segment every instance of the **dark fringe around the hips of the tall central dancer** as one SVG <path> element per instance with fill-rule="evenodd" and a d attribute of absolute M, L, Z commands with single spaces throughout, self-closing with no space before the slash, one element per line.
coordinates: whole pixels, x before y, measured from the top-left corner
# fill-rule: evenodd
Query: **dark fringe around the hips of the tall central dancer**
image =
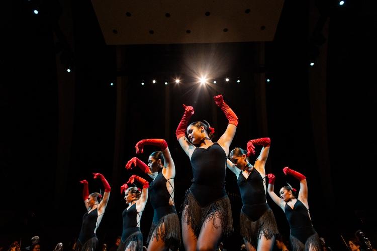
<path fill-rule="evenodd" d="M 182 221 L 185 220 L 190 225 L 196 239 L 198 239 L 204 222 L 212 220 L 214 217 L 220 219 L 221 225 L 219 226 L 213 221 L 213 227 L 222 227 L 225 236 L 233 232 L 233 218 L 228 196 L 214 201 L 206 207 L 201 207 L 189 189 L 186 191 L 182 209 Z"/>

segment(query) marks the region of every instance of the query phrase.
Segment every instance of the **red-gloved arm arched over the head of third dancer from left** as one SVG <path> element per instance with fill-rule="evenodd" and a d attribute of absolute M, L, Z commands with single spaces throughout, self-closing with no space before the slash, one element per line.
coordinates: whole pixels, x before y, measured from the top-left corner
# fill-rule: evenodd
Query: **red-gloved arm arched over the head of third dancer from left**
<path fill-rule="evenodd" d="M 141 140 L 135 146 L 137 154 L 143 153 L 144 145 L 153 145 L 161 149 L 162 156 L 164 158 L 164 167 L 166 168 L 166 173 L 164 174 L 166 174 L 167 177 L 169 178 L 173 178 L 175 176 L 175 166 L 174 166 L 174 161 L 171 158 L 170 151 L 169 151 L 166 141 L 162 139 Z"/>

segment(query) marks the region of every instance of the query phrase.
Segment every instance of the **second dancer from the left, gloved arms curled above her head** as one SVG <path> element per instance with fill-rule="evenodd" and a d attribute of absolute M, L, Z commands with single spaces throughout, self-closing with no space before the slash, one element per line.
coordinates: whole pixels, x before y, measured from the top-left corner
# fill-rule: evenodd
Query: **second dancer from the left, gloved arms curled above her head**
<path fill-rule="evenodd" d="M 134 180 L 143 185 L 142 191 L 134 186 L 128 187 L 127 183 L 133 184 Z M 117 251 L 142 251 L 143 234 L 140 231 L 140 220 L 148 199 L 149 183 L 136 175 L 132 175 L 127 183 L 121 186 L 121 193 L 125 192 L 124 198 L 128 207 L 122 213 L 123 231 Z"/>

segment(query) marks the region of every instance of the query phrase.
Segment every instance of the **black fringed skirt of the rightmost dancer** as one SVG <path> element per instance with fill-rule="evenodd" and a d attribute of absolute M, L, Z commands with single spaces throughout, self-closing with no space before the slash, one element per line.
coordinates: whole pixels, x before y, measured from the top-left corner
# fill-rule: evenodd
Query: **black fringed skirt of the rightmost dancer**
<path fill-rule="evenodd" d="M 291 246 L 293 251 L 321 251 L 321 242 L 313 226 L 291 228 Z"/>

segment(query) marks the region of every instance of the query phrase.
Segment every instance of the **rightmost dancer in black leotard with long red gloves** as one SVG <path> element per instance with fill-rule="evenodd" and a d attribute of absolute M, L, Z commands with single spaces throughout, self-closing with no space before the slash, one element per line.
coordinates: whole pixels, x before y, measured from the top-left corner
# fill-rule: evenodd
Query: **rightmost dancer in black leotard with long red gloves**
<path fill-rule="evenodd" d="M 286 213 L 290 224 L 291 246 L 293 251 L 320 251 L 321 242 L 319 236 L 312 225 L 308 204 L 308 184 L 306 177 L 288 167 L 283 169 L 287 175 L 290 174 L 300 180 L 300 192 L 296 198 L 296 189 L 291 186 L 284 186 L 279 191 L 279 196 L 274 192 L 275 176 L 268 174 L 268 194 L 271 199 Z"/>

